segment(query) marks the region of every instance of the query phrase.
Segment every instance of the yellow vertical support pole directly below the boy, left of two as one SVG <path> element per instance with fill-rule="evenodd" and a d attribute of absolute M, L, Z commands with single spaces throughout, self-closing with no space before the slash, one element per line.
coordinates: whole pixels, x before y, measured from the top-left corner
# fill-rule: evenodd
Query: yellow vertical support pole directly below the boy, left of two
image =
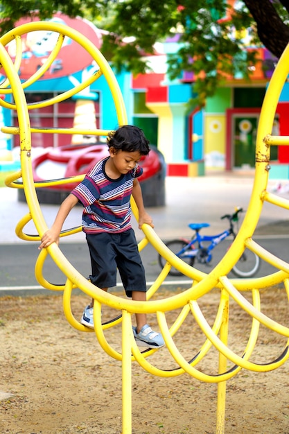
<path fill-rule="evenodd" d="M 132 337 L 132 325 L 130 313 L 123 310 L 122 322 L 122 375 L 123 375 L 123 432 L 132 433 L 132 351 L 130 338 Z"/>

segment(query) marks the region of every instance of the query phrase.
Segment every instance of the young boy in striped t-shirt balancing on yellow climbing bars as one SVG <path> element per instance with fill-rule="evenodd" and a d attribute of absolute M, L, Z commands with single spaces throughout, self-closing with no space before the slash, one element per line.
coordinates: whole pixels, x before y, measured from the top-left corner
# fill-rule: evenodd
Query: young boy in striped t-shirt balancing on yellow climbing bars
<path fill-rule="evenodd" d="M 150 152 L 149 141 L 141 129 L 123 125 L 108 134 L 107 144 L 109 157 L 96 163 L 62 202 L 51 229 L 42 236 L 39 248 L 58 243 L 64 220 L 80 201 L 84 207 L 82 230 L 86 234 L 91 258 L 91 282 L 107 291 L 116 286 L 118 268 L 126 295 L 132 300 L 146 302 L 145 271 L 130 221 L 130 196 L 139 210 L 139 228 L 143 223 L 154 227 L 143 206 L 141 186 L 137 180 L 142 173 L 138 162 L 142 155 Z M 90 328 L 94 328 L 93 306 L 94 300 L 91 300 L 80 320 Z M 139 346 L 164 346 L 161 334 L 146 324 L 145 313 L 137 313 L 136 321 L 133 333 Z"/>

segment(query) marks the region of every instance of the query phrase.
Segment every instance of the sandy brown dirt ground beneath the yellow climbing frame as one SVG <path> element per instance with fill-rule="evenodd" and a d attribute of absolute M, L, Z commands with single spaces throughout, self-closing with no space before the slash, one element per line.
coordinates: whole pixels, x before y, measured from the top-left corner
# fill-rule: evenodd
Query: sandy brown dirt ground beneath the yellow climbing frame
<path fill-rule="evenodd" d="M 170 293 L 171 294 L 171 293 Z M 168 296 L 161 293 L 160 297 Z M 210 324 L 220 294 L 199 300 Z M 0 304 L 0 432 L 2 434 L 119 434 L 122 426 L 121 362 L 100 348 L 94 332 L 73 329 L 62 313 L 61 295 L 2 297 Z M 71 308 L 80 318 L 85 295 L 73 295 Z M 261 306 L 271 318 L 289 326 L 288 300 L 283 288 L 262 290 Z M 177 311 L 166 315 L 168 324 Z M 103 308 L 103 318 L 115 313 Z M 229 347 L 243 354 L 252 320 L 230 303 Z M 157 328 L 154 315 L 150 324 Z M 121 350 L 121 325 L 105 331 L 114 349 Z M 204 335 L 191 313 L 176 333 L 175 344 L 186 358 L 198 353 Z M 251 360 L 277 358 L 287 339 L 261 326 Z M 177 367 L 168 349 L 147 359 L 166 370 Z M 218 373 L 216 350 L 197 365 Z M 231 362 L 228 362 L 231 367 Z M 241 370 L 227 381 L 225 432 L 229 434 L 289 433 L 289 363 L 277 370 Z M 132 433 L 216 433 L 217 386 L 189 374 L 161 378 L 132 365 Z"/>

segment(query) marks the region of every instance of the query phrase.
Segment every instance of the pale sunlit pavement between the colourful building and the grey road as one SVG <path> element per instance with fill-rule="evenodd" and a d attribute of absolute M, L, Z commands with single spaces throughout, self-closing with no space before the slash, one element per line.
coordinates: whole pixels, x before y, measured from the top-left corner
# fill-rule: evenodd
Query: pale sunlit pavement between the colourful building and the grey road
<path fill-rule="evenodd" d="M 205 177 L 167 177 L 166 178 L 166 206 L 150 207 L 155 231 L 160 238 L 166 240 L 176 236 L 191 234 L 188 224 L 191 222 L 208 222 L 212 233 L 224 229 L 224 221 L 220 220 L 223 214 L 230 214 L 234 207 L 247 209 L 252 193 L 254 177 L 250 175 L 214 175 Z M 271 182 L 268 189 L 273 189 L 276 182 Z M 289 198 L 289 193 L 283 193 Z M 15 227 L 19 220 L 28 213 L 28 206 L 17 200 L 17 190 L 3 187 L 0 189 L 1 215 L 0 215 L 0 243 L 26 243 L 15 234 Z M 57 214 L 58 205 L 42 205 L 42 213 L 47 225 L 51 225 Z M 265 203 L 258 227 L 288 220 L 288 211 Z M 81 207 L 75 207 L 65 227 L 75 227 L 81 223 Z M 133 222 L 137 238 L 141 232 Z M 278 228 L 277 228 L 278 229 Z M 33 223 L 26 226 L 27 233 L 35 233 Z M 62 238 L 62 242 L 84 241 L 82 233 Z"/>

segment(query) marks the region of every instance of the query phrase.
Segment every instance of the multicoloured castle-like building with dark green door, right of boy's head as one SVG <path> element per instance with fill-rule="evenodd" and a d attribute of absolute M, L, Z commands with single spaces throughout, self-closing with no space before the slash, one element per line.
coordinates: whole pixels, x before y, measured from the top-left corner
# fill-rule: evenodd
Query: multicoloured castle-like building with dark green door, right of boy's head
<path fill-rule="evenodd" d="M 167 40 L 166 53 L 177 49 L 175 44 L 177 36 Z M 207 98 L 202 110 L 197 108 L 190 114 L 187 101 L 193 98 L 193 73 L 184 71 L 174 83 L 164 72 L 132 78 L 134 93 L 143 92 L 144 105 L 157 115 L 157 145 L 166 157 L 168 175 L 254 167 L 256 130 L 274 61 L 267 49 L 259 49 L 259 62 L 250 83 L 242 77 L 230 78 L 213 97 Z M 276 114 L 276 134 L 286 134 L 288 101 L 285 85 Z M 289 162 L 286 146 L 272 148 L 271 157 L 274 168 Z"/>

